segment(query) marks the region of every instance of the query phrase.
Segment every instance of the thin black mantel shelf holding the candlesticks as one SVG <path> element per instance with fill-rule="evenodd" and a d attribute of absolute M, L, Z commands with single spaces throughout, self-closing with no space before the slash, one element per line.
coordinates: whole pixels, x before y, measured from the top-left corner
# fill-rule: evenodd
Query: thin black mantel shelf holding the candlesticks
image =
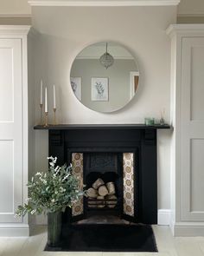
<path fill-rule="evenodd" d="M 45 127 L 43 125 L 36 125 L 34 129 L 36 130 L 73 130 L 73 129 L 169 129 L 172 128 L 169 124 L 155 124 L 155 125 L 145 125 L 145 124 L 57 124 L 48 125 Z"/>

